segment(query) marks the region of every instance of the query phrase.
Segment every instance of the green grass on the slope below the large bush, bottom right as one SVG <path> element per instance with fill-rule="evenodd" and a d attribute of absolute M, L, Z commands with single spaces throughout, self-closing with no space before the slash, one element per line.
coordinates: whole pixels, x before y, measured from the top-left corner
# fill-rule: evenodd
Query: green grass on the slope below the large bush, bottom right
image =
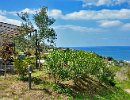
<path fill-rule="evenodd" d="M 85 83 L 84 83 L 85 84 Z M 93 83 L 92 83 L 93 84 Z M 96 84 L 94 86 L 94 84 Z M 73 88 L 68 88 L 64 86 L 55 86 L 55 91 L 58 91 L 62 94 L 67 94 L 70 97 L 76 100 L 128 100 L 130 99 L 130 94 L 125 92 L 123 89 L 119 87 L 111 87 L 106 85 L 97 85 L 94 83 L 92 87 L 89 85 L 88 87 L 80 87 L 80 89 L 84 88 L 85 91 L 76 91 Z M 92 89 L 93 88 L 93 89 Z M 83 90 L 82 90 L 83 91 Z"/>

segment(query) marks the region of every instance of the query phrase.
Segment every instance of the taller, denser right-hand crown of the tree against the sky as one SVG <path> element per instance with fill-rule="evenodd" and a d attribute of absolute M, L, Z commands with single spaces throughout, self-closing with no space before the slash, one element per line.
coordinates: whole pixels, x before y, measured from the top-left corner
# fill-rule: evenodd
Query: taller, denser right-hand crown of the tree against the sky
<path fill-rule="evenodd" d="M 50 26 L 55 22 L 55 20 L 53 18 L 49 18 L 47 15 L 47 8 L 41 8 L 40 11 L 33 16 L 33 18 L 36 26 L 38 27 L 38 41 L 44 43 L 44 40 L 47 39 L 47 42 L 54 43 L 56 33 Z"/>

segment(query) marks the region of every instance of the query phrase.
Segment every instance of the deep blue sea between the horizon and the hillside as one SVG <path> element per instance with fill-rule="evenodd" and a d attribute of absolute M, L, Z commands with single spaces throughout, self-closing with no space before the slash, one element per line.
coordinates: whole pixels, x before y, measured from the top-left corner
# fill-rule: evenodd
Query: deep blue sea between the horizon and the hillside
<path fill-rule="evenodd" d="M 71 47 L 76 50 L 92 51 L 104 57 L 130 61 L 130 46 Z"/>

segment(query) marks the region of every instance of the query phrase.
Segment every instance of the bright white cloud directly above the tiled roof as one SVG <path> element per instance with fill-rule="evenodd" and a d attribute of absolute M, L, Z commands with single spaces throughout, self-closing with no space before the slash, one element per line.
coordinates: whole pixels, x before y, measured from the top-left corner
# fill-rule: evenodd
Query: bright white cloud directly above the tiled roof
<path fill-rule="evenodd" d="M 9 23 L 9 24 L 14 24 L 14 25 L 21 25 L 21 22 L 19 20 L 10 19 L 10 18 L 7 18 L 2 15 L 0 15 L 0 22 L 5 22 L 5 23 Z"/>

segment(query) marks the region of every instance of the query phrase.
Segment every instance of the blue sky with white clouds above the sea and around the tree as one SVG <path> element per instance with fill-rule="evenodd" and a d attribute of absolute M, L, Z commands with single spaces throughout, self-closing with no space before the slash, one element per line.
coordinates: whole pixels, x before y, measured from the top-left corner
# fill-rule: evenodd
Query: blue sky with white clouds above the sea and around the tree
<path fill-rule="evenodd" d="M 130 0 L 0 0 L 0 22 L 43 7 L 56 20 L 57 47 L 130 46 Z"/>

